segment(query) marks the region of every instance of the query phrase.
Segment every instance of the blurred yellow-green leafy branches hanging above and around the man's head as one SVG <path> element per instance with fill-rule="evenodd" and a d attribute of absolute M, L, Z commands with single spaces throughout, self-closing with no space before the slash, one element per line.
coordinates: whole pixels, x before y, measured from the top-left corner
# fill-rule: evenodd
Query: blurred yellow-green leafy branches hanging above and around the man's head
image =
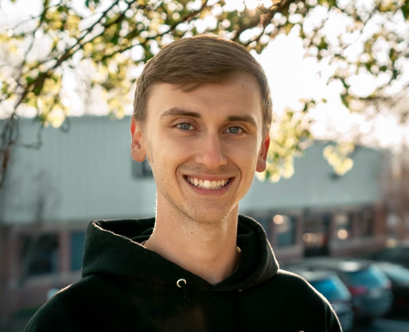
<path fill-rule="evenodd" d="M 23 6 L 20 1 L 13 0 Z M 334 15 L 348 25 L 329 38 Z M 85 108 L 92 91 L 99 91 L 106 111 L 122 117 L 141 66 L 173 40 L 208 33 L 259 53 L 277 35 L 299 29 L 306 55 L 335 68 L 328 82 L 341 82 L 344 105 L 362 112 L 360 102 L 378 107 L 393 97 L 385 93 L 387 87 L 402 82 L 409 52 L 409 33 L 402 24 L 408 15 L 403 0 L 43 0 L 39 15 L 0 32 L 0 108 L 8 115 L 2 128 L 0 187 L 11 146 L 18 141 L 22 109 L 31 109 L 40 126 L 66 128 L 73 106 L 65 76 L 75 78 Z M 370 95 L 355 95 L 351 89 L 351 77 L 358 73 L 380 82 Z M 400 91 L 407 89 L 401 85 Z M 315 101 L 306 101 L 301 112 L 287 110 L 273 124 L 270 163 L 261 178 L 277 181 L 292 175 L 294 156 L 312 140 L 311 121 L 298 113 L 307 115 L 311 107 Z M 352 166 L 349 151 L 340 145 L 324 152 L 336 173 Z"/>

